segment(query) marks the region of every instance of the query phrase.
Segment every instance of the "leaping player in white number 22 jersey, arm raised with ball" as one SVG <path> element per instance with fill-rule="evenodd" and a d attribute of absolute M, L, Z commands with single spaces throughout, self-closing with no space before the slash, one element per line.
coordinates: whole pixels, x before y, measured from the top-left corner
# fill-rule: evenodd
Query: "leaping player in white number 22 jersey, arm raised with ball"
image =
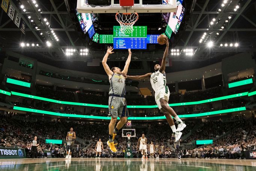
<path fill-rule="evenodd" d="M 175 111 L 169 106 L 169 96 L 170 91 L 169 88 L 166 86 L 166 73 L 165 73 L 165 66 L 166 66 L 166 58 L 168 56 L 169 50 L 169 41 L 168 38 L 165 37 L 166 42 L 166 50 L 164 52 L 162 64 L 155 65 L 155 72 L 148 73 L 145 75 L 138 75 L 138 76 L 129 76 L 123 74 L 124 77 L 130 78 L 133 80 L 143 80 L 146 78 L 150 78 L 151 86 L 155 91 L 155 102 L 157 103 L 158 108 L 164 113 L 166 116 L 167 122 L 169 123 L 170 127 L 172 128 L 173 133 L 175 133 L 175 141 L 178 142 L 181 138 L 181 131 L 186 127 L 184 122 L 181 121 L 179 116 L 175 113 Z M 178 123 L 178 128 L 176 129 L 173 118 L 175 118 L 176 122 Z"/>

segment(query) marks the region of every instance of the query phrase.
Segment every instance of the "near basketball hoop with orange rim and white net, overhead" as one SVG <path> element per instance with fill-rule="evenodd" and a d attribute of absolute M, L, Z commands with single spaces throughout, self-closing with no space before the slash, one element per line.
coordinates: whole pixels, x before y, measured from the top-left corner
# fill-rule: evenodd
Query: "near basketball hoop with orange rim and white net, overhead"
<path fill-rule="evenodd" d="M 133 32 L 133 25 L 139 19 L 138 13 L 116 13 L 116 21 L 121 26 L 121 31 L 126 34 Z"/>

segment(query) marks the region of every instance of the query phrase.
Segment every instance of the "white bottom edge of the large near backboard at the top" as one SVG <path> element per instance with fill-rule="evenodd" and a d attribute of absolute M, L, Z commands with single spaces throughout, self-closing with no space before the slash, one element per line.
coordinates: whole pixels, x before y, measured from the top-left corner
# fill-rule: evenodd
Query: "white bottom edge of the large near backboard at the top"
<path fill-rule="evenodd" d="M 167 4 L 143 4 L 140 0 L 139 4 L 134 6 L 120 6 L 114 4 L 111 0 L 110 6 L 95 6 L 92 7 L 86 3 L 86 0 L 77 0 L 77 10 L 80 13 L 166 13 L 176 11 L 176 0 L 169 0 Z"/>

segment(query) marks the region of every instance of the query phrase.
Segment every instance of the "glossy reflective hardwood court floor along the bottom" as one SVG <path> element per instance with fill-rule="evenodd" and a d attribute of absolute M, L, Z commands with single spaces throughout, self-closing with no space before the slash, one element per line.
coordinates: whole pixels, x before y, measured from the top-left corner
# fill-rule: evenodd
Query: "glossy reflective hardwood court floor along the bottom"
<path fill-rule="evenodd" d="M 0 159 L 1 171 L 256 171 L 256 160 L 64 158 Z"/>

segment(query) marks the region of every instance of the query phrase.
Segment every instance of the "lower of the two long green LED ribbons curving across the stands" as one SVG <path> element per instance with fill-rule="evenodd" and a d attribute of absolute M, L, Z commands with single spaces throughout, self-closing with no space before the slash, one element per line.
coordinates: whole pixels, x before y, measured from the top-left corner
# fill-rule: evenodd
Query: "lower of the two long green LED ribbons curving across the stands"
<path fill-rule="evenodd" d="M 54 115 L 54 116 L 70 117 L 70 118 L 87 118 L 87 119 L 103 119 L 103 120 L 111 119 L 111 117 L 106 117 L 106 116 L 62 114 L 62 113 L 57 113 L 57 112 L 42 111 L 42 110 L 38 110 L 38 109 L 23 108 L 23 107 L 19 107 L 19 106 L 14 106 L 14 110 Z M 245 107 L 241 107 L 241 108 L 225 109 L 225 110 L 220 110 L 220 111 L 205 112 L 205 113 L 200 113 L 200 114 L 187 114 L 187 115 L 178 115 L 178 116 L 179 116 L 179 118 L 194 118 L 194 117 L 200 117 L 200 116 L 217 115 L 217 114 L 224 114 L 224 113 L 238 112 L 238 111 L 245 111 L 245 110 L 246 110 Z M 120 119 L 120 118 L 118 117 L 117 119 Z M 165 116 L 129 117 L 129 120 L 158 120 L 158 119 L 166 119 L 166 117 Z"/>

